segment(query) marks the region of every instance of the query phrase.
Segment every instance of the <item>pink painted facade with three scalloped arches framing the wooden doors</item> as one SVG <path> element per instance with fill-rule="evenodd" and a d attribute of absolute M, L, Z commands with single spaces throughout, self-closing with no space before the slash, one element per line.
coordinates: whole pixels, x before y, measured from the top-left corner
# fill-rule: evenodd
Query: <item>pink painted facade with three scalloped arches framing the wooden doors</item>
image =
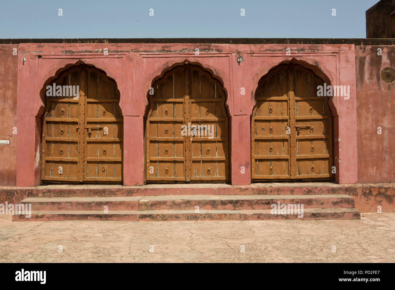
<path fill-rule="evenodd" d="M 199 48 L 199 55 L 195 48 Z M 286 54 L 290 47 L 291 54 Z M 102 50 L 107 48 L 109 55 Z M 220 80 L 227 92 L 231 127 L 231 183 L 250 183 L 250 114 L 259 79 L 280 63 L 313 69 L 332 85 L 349 85 L 350 99 L 330 101 L 334 116 L 335 179 L 356 183 L 357 115 L 354 45 L 214 45 L 214 44 L 20 44 L 26 63 L 18 62 L 17 185 L 40 183 L 40 91 L 79 60 L 102 69 L 120 90 L 124 114 L 124 185 L 143 183 L 143 120 L 153 80 L 185 60 L 199 64 Z M 38 58 L 38 56 L 41 56 Z M 243 58 L 240 64 L 237 59 Z M 245 95 L 241 95 L 245 88 Z M 43 91 L 41 92 L 42 95 Z M 340 137 L 340 138 L 339 138 Z M 343 145 L 344 144 L 344 145 Z M 245 174 L 241 174 L 241 167 Z"/>

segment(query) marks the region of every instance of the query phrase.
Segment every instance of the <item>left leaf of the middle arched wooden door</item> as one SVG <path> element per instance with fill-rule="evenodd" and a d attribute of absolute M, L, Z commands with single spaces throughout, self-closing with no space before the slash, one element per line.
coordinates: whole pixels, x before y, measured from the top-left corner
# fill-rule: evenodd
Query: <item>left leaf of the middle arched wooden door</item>
<path fill-rule="evenodd" d="M 147 118 L 147 171 L 152 181 L 184 180 L 184 75 L 168 73 L 154 85 Z M 182 97 L 182 99 L 181 99 Z"/>

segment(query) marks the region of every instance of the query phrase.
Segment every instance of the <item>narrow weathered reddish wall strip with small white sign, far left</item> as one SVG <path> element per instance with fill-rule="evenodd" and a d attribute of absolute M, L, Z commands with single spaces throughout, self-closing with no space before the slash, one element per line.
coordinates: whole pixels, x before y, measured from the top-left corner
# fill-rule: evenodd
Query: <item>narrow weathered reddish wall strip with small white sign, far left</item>
<path fill-rule="evenodd" d="M 0 185 L 17 183 L 17 135 L 13 127 L 17 127 L 17 62 L 22 56 L 18 51 L 13 55 L 14 48 L 18 45 L 0 45 L 0 140 L 9 140 L 9 145 L 0 145 Z"/>

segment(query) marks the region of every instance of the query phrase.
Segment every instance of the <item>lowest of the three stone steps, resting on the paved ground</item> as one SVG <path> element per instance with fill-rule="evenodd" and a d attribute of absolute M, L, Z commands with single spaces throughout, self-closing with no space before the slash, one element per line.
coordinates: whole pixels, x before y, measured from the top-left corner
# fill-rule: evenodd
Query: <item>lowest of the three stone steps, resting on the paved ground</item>
<path fill-rule="evenodd" d="M 147 210 L 147 211 L 32 211 L 31 217 L 13 215 L 13 221 L 257 221 L 283 219 L 360 219 L 353 208 L 307 208 L 297 214 L 271 214 L 271 210 Z"/>

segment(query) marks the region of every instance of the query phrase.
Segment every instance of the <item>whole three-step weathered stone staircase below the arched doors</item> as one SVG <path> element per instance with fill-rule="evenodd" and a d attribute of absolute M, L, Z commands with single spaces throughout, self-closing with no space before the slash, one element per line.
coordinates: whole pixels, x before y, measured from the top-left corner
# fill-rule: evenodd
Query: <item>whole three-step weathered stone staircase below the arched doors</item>
<path fill-rule="evenodd" d="M 20 203 L 32 205 L 32 215 L 13 215 L 13 221 L 360 219 L 354 198 L 344 194 L 343 187 L 332 183 L 311 184 L 314 186 L 306 183 L 286 186 L 280 183 L 279 187 L 199 184 L 64 188 L 55 185 L 40 187 L 21 200 Z M 284 209 L 284 205 L 288 208 Z"/>

